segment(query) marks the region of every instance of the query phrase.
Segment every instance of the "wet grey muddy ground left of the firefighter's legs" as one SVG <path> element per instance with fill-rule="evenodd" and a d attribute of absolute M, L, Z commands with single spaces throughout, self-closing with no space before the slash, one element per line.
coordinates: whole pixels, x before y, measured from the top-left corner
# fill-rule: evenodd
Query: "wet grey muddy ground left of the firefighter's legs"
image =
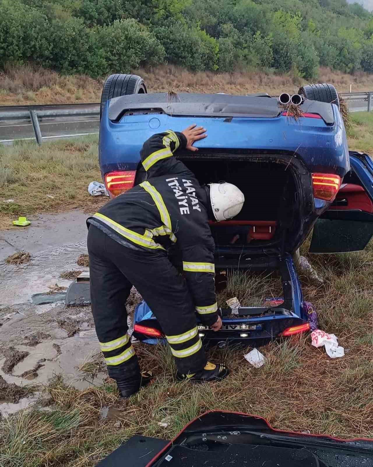
<path fill-rule="evenodd" d="M 64 293 L 87 254 L 85 219 L 71 213 L 45 215 L 24 230 L 0 232 L 0 412 L 3 416 L 35 402 L 35 390 L 56 374 L 78 389 L 99 385 L 106 372 L 88 373 L 84 367 L 99 345 L 89 306 L 67 307 Z M 5 259 L 18 249 L 30 252 L 31 260 L 20 265 Z M 58 290 L 58 293 L 55 293 Z M 33 295 L 51 294 L 57 301 L 35 305 Z M 140 297 L 135 290 L 128 300 L 134 310 Z M 131 325 L 131 323 L 129 323 Z M 30 386 L 32 385 L 32 386 Z"/>

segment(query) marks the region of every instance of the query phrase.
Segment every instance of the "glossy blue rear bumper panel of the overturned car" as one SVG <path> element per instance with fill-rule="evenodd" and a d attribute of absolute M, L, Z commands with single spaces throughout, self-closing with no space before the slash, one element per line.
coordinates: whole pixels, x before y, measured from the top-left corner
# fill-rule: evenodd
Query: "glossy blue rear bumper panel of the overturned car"
<path fill-rule="evenodd" d="M 207 128 L 200 149 L 257 149 L 286 151 L 304 164 L 304 173 L 336 173 L 350 170 L 347 138 L 337 107 L 332 104 L 335 124 L 322 119 L 175 117 L 167 114 L 125 115 L 119 123 L 108 119 L 106 104 L 100 122 L 99 162 L 102 176 L 114 170 L 136 170 L 140 149 L 152 134 L 172 128 L 182 131 L 191 121 Z M 152 121 L 158 120 L 155 128 Z"/>

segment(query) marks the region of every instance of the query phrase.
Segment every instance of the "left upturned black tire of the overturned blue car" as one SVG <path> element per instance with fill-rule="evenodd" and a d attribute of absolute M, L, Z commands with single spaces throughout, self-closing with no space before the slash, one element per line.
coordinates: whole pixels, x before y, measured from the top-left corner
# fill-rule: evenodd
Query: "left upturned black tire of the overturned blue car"
<path fill-rule="evenodd" d="M 105 81 L 101 94 L 100 120 L 105 104 L 113 97 L 126 96 L 128 94 L 147 94 L 143 78 L 137 75 L 115 74 Z"/>

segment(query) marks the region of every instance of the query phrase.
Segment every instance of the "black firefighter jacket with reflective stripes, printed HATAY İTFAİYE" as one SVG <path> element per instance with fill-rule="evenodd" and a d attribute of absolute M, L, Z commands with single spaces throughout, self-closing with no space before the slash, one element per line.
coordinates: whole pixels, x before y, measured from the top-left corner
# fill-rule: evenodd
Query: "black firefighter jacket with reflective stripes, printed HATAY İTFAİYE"
<path fill-rule="evenodd" d="M 208 225 L 208 191 L 173 153 L 186 137 L 154 134 L 140 152 L 146 181 L 111 199 L 88 222 L 128 248 L 167 250 L 182 257 L 184 276 L 202 323 L 214 324 L 214 240 Z"/>

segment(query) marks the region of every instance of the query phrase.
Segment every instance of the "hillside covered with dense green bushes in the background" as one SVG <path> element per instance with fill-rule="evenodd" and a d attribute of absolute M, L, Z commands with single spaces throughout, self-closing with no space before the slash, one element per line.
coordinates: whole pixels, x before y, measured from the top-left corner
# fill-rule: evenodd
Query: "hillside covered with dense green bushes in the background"
<path fill-rule="evenodd" d="M 373 18 L 346 0 L 0 0 L 0 67 L 102 77 L 192 71 L 373 72 Z"/>

